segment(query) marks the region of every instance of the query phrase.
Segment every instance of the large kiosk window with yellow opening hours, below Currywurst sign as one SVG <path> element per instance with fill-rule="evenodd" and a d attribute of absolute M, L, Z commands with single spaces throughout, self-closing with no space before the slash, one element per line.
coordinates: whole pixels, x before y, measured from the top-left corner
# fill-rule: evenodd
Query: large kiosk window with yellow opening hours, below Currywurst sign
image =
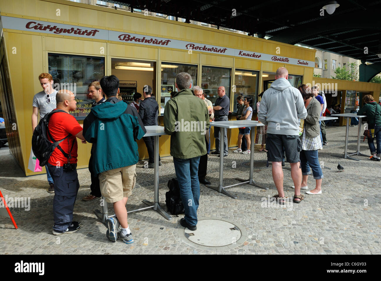
<path fill-rule="evenodd" d="M 104 76 L 104 57 L 48 54 L 48 69 L 53 76 L 54 89 L 69 89 L 75 94 L 77 109 L 70 111 L 77 120 L 90 113 L 93 99 L 87 93 L 88 85 Z"/>

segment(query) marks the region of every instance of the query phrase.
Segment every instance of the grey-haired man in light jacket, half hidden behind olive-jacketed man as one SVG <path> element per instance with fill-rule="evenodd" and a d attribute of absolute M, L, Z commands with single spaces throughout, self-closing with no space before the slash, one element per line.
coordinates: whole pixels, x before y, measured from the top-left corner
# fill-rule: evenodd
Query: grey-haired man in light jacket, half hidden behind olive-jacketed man
<path fill-rule="evenodd" d="M 205 102 L 205 106 L 207 106 L 208 108 L 209 117 L 210 119 L 213 119 L 214 117 L 213 104 L 211 101 L 205 98 L 205 96 L 203 95 L 203 89 L 200 86 L 194 86 L 192 90 L 196 97 L 199 97 Z M 208 147 L 210 147 L 210 128 L 209 130 L 207 130 L 207 133 L 205 134 L 205 143 L 207 145 L 207 151 L 208 151 Z M 210 184 L 210 181 L 205 179 L 205 176 L 207 175 L 207 166 L 208 166 L 208 154 L 205 154 L 200 157 L 200 162 L 199 162 L 200 184 Z"/>

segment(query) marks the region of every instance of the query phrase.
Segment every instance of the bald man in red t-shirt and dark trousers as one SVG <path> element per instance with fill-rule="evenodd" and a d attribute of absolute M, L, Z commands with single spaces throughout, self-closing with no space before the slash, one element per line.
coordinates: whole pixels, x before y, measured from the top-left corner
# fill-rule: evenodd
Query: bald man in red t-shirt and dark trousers
<path fill-rule="evenodd" d="M 53 142 L 70 136 L 54 149 L 48 160 L 48 169 L 54 180 L 53 200 L 53 234 L 74 233 L 80 228 L 79 222 L 73 221 L 73 209 L 79 188 L 77 174 L 77 137 L 86 143 L 82 135 L 82 127 L 69 114 L 75 110 L 77 102 L 74 94 L 68 90 L 61 90 L 56 96 L 57 112 L 51 115 L 48 123 L 48 139 Z M 54 109 L 54 110 L 57 110 Z M 52 140 L 53 138 L 53 140 Z M 61 148 L 61 149 L 60 149 Z"/>

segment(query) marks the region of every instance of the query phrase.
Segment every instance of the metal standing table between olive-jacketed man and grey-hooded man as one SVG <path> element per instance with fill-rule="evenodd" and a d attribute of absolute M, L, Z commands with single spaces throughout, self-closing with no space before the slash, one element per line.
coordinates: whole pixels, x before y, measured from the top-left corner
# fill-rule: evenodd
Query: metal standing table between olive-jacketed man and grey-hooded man
<path fill-rule="evenodd" d="M 218 186 L 212 186 L 210 184 L 205 185 L 206 187 L 212 188 L 214 190 L 217 190 L 218 192 L 221 192 L 227 196 L 230 196 L 231 198 L 237 199 L 238 197 L 227 192 L 225 188 L 228 187 L 234 187 L 241 184 L 251 184 L 255 185 L 256 187 L 260 187 L 263 189 L 268 190 L 269 188 L 261 187 L 260 185 L 256 184 L 256 182 L 253 179 L 253 169 L 254 169 L 254 142 L 255 142 L 255 136 L 254 136 L 254 130 L 251 129 L 251 147 L 250 147 L 250 177 L 249 179 L 239 179 L 235 178 L 236 180 L 240 180 L 243 182 L 240 182 L 239 184 L 233 184 L 228 185 L 226 187 L 223 186 L 223 173 L 224 173 L 224 129 L 233 129 L 233 128 L 242 128 L 242 127 L 259 127 L 264 126 L 262 123 L 258 123 L 258 121 L 251 121 L 251 120 L 241 120 L 241 121 L 219 121 L 219 122 L 211 122 L 211 126 L 219 127 L 220 128 L 220 142 L 219 142 L 219 184 Z"/>

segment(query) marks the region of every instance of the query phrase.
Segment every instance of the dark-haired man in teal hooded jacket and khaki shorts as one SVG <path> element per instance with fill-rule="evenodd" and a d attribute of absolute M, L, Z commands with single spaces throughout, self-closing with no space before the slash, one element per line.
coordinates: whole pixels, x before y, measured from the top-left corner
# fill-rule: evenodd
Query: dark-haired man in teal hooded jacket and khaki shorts
<path fill-rule="evenodd" d="M 102 196 L 114 204 L 116 218 L 107 219 L 107 238 L 133 243 L 127 222 L 126 203 L 136 182 L 136 163 L 139 160 L 137 139 L 146 129 L 134 107 L 119 101 L 119 80 L 114 75 L 100 81 L 106 97 L 103 104 L 91 109 L 83 121 L 83 136 L 96 146 L 93 168 L 99 174 Z M 118 232 L 119 225 L 122 229 Z"/>

